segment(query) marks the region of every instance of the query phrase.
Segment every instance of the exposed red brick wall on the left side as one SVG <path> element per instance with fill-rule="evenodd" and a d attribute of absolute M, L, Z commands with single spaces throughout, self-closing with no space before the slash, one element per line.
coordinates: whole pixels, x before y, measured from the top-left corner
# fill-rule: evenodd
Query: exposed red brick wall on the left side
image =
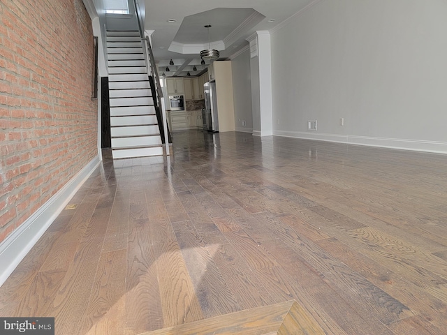
<path fill-rule="evenodd" d="M 82 0 L 0 2 L 0 242 L 97 154 Z"/>

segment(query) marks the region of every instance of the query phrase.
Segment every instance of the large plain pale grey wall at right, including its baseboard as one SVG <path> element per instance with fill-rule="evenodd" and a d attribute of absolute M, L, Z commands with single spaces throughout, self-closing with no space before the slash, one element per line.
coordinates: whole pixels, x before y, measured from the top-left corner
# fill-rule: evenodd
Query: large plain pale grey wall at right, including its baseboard
<path fill-rule="evenodd" d="M 446 17 L 443 0 L 323 0 L 272 31 L 274 134 L 447 152 Z"/>

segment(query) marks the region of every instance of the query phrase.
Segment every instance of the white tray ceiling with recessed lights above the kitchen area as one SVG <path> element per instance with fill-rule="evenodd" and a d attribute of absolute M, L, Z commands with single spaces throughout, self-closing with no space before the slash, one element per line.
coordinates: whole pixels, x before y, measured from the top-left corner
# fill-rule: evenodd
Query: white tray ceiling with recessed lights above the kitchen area
<path fill-rule="evenodd" d="M 145 0 L 145 30 L 153 31 L 152 49 L 160 75 L 194 76 L 206 67 L 200 64 L 200 50 L 210 46 L 219 50 L 219 59 L 231 59 L 248 46 L 246 38 L 255 31 L 270 31 L 313 2 Z M 212 26 L 209 30 L 204 27 L 207 24 Z M 173 66 L 169 65 L 170 59 Z"/>

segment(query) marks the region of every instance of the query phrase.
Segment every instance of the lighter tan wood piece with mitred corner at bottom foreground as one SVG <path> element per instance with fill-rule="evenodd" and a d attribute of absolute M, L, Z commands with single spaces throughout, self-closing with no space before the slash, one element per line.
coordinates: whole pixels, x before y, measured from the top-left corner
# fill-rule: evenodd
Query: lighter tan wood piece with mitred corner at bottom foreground
<path fill-rule="evenodd" d="M 139 335 L 304 335 L 325 334 L 295 300 L 246 309 Z"/>

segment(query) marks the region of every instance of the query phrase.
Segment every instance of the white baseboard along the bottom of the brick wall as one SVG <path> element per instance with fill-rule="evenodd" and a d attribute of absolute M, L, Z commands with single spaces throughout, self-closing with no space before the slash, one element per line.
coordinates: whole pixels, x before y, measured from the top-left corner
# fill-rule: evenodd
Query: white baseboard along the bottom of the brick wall
<path fill-rule="evenodd" d="M 13 273 L 31 248 L 53 223 L 73 195 L 101 163 L 99 156 L 90 161 L 75 177 L 45 202 L 27 221 L 0 244 L 0 286 Z"/>

